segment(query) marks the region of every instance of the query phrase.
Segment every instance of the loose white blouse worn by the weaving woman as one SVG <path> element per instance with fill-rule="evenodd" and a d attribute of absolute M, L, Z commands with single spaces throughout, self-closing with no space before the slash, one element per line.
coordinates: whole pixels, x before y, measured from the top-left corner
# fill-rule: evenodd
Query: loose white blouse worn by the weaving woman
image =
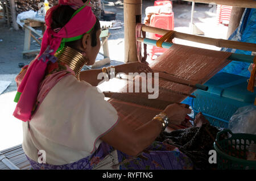
<path fill-rule="evenodd" d="M 30 131 L 23 123 L 23 150 L 36 162 L 44 150 L 48 164 L 73 163 L 92 154 L 117 123 L 117 111 L 97 87 L 68 75 L 48 92 Z"/>

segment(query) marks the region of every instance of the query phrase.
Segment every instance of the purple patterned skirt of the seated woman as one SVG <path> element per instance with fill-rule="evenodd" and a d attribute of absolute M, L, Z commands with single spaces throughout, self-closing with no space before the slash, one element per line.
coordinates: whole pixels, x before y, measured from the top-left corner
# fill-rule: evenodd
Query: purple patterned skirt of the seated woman
<path fill-rule="evenodd" d="M 89 157 L 66 165 L 40 164 L 28 158 L 34 170 L 91 170 L 94 169 L 111 151 L 113 147 L 102 142 L 99 148 Z M 184 153 L 174 146 L 155 141 L 140 157 L 131 157 L 117 150 L 121 170 L 178 170 L 193 169 L 193 163 Z"/>

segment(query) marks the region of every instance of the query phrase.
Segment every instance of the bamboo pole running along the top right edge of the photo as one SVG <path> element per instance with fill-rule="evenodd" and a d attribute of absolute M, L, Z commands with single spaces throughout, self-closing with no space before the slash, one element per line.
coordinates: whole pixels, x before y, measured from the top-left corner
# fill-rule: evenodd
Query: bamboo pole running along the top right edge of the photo
<path fill-rule="evenodd" d="M 189 2 L 215 3 L 217 5 L 256 8 L 255 0 L 183 0 Z"/>

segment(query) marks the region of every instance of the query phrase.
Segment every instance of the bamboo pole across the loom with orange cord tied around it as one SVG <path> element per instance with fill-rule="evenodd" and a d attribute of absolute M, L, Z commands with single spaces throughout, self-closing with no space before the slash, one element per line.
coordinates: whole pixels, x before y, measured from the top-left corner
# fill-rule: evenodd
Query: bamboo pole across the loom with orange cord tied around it
<path fill-rule="evenodd" d="M 155 27 L 144 25 L 142 26 L 142 31 L 156 33 L 159 35 L 165 35 L 170 30 L 164 30 L 162 28 L 155 28 Z M 177 39 L 183 39 L 188 41 L 195 41 L 197 43 L 214 45 L 220 48 L 225 47 L 225 48 L 241 49 L 241 50 L 256 52 L 256 44 L 254 43 L 245 43 L 240 41 L 223 40 L 223 39 L 213 39 L 210 37 L 190 35 L 187 33 L 181 33 L 177 31 L 175 31 L 174 37 L 176 37 Z"/>

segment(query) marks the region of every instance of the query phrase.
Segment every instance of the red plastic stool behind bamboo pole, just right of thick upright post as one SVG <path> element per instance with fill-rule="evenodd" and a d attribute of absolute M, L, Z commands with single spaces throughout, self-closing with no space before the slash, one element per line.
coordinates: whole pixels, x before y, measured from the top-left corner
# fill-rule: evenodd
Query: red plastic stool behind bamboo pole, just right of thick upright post
<path fill-rule="evenodd" d="M 166 30 L 174 30 L 174 13 L 172 14 L 154 14 L 150 19 L 150 26 L 156 28 L 164 28 Z M 162 37 L 162 35 L 158 35 L 155 33 L 150 33 L 150 38 L 158 40 Z M 166 52 L 166 48 L 160 48 L 156 46 L 152 46 L 151 49 L 151 60 L 156 53 L 164 53 Z"/>

